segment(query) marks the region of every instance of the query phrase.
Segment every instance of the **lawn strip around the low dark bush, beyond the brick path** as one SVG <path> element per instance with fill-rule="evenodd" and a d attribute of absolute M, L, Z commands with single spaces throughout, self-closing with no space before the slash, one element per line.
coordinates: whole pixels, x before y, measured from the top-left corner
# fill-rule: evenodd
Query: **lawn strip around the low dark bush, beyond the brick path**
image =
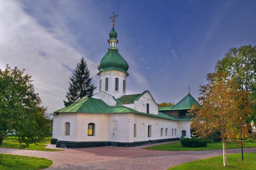
<path fill-rule="evenodd" d="M 243 148 L 256 148 L 256 141 L 244 141 L 245 146 Z M 226 142 L 226 149 L 234 149 L 234 148 L 241 148 L 235 145 L 235 143 Z M 156 151 L 207 151 L 207 150 L 214 150 L 214 149 L 222 149 L 222 142 L 212 142 L 208 143 L 206 147 L 199 147 L 199 148 L 187 148 L 181 146 L 180 142 L 174 142 L 164 145 L 157 145 L 151 146 L 147 148 L 143 148 L 147 150 L 156 150 Z"/>

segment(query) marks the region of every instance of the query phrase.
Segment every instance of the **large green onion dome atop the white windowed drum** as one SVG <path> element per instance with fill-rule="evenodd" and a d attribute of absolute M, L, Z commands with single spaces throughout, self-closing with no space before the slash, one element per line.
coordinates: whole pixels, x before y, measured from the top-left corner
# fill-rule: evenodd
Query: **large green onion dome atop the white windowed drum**
<path fill-rule="evenodd" d="M 129 76 L 127 73 L 129 65 L 116 49 L 109 49 L 99 62 L 97 68 L 99 73 L 102 71 L 116 70 L 126 73 Z"/>

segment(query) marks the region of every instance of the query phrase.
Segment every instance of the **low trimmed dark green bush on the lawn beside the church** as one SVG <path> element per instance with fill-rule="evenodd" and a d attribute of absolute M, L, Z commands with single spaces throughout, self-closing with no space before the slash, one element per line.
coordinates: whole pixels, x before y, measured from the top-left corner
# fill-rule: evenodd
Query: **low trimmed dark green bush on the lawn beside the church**
<path fill-rule="evenodd" d="M 198 148 L 206 147 L 208 140 L 204 138 L 182 138 L 180 139 L 180 142 L 184 147 Z"/>

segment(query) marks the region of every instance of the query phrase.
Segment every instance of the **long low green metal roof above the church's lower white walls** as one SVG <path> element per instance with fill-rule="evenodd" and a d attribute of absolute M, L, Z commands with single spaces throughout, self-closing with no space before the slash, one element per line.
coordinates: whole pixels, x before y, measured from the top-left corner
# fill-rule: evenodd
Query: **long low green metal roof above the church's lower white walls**
<path fill-rule="evenodd" d="M 173 118 L 169 115 L 166 115 L 162 112 L 158 112 L 158 115 L 153 115 L 149 113 L 143 113 L 143 112 L 137 112 L 133 109 L 127 108 L 125 106 L 108 106 L 106 103 L 104 103 L 101 99 L 95 99 L 95 98 L 86 98 L 83 100 L 78 100 L 75 103 L 71 104 L 70 106 L 67 106 L 65 108 L 62 108 L 60 110 L 55 111 L 55 114 L 61 113 L 61 112 L 82 112 L 82 113 L 137 113 L 140 115 L 147 115 L 152 117 L 158 117 L 158 118 L 165 118 L 170 120 L 178 120 L 176 118 Z"/>

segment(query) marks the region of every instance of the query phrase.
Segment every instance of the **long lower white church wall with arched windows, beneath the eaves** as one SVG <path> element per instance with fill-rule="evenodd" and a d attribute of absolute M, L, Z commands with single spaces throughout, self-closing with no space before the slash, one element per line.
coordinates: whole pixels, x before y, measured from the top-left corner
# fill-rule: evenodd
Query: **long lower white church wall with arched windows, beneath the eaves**
<path fill-rule="evenodd" d="M 59 115 L 58 138 L 56 138 L 59 141 L 139 142 L 156 139 L 180 138 L 181 136 L 181 130 L 178 128 L 181 124 L 178 124 L 177 121 L 154 118 L 134 113 L 71 114 L 73 115 L 66 115 L 63 113 L 60 113 Z M 57 116 L 58 115 L 55 117 Z M 65 122 L 70 122 L 70 136 L 64 135 Z M 116 126 L 114 127 L 113 122 L 116 123 Z M 95 124 L 95 136 L 87 135 L 89 123 Z M 136 124 L 136 137 L 134 137 L 134 124 Z M 151 137 L 148 137 L 148 125 L 151 125 Z M 163 128 L 163 136 L 161 136 L 161 128 Z M 167 136 L 165 136 L 166 128 L 168 129 Z M 175 133 L 173 133 L 172 136 L 172 128 L 177 129 L 176 136 Z M 183 129 L 184 128 L 185 127 L 183 126 Z"/>

